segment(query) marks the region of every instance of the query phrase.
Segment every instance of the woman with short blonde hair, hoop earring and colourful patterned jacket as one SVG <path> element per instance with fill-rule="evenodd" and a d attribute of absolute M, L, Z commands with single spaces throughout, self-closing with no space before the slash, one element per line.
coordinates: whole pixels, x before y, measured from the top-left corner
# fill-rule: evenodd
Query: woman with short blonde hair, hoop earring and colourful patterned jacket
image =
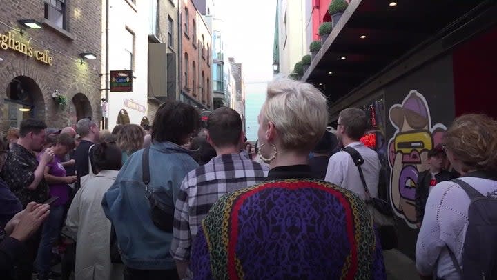
<path fill-rule="evenodd" d="M 311 84 L 269 85 L 258 130 L 267 181 L 211 208 L 193 244 L 194 279 L 384 279 L 362 199 L 311 173 L 327 122 L 327 99 Z"/>

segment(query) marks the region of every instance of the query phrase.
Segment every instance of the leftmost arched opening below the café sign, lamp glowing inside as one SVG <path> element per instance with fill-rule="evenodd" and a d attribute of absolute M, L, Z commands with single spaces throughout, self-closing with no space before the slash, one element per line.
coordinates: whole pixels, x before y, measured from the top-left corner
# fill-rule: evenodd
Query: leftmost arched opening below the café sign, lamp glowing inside
<path fill-rule="evenodd" d="M 45 101 L 35 80 L 17 76 L 8 83 L 2 117 L 3 126 L 9 127 L 18 127 L 28 118 L 45 121 Z"/>

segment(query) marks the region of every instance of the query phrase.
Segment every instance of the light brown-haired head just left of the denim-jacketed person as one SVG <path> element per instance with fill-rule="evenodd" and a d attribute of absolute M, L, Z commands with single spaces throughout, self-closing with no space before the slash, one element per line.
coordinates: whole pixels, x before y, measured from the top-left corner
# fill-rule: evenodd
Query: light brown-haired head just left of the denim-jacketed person
<path fill-rule="evenodd" d="M 144 146 L 145 131 L 137 124 L 126 124 L 117 133 L 117 146 L 122 150 L 122 163 L 124 164 L 133 152 Z"/>

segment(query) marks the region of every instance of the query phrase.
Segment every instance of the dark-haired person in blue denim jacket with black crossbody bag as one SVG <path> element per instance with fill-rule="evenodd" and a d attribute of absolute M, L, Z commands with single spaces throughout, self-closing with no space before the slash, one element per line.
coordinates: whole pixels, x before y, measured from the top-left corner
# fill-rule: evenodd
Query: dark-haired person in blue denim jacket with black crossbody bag
<path fill-rule="evenodd" d="M 149 188 L 155 199 L 166 206 L 174 207 L 184 177 L 198 167 L 182 145 L 199 125 L 197 110 L 186 103 L 167 101 L 155 114 L 148 161 Z M 125 266 L 124 279 L 177 279 L 175 261 L 169 253 L 173 232 L 157 228 L 150 216 L 142 180 L 143 152 L 135 152 L 126 161 L 104 195 L 102 206 L 115 227 Z"/>

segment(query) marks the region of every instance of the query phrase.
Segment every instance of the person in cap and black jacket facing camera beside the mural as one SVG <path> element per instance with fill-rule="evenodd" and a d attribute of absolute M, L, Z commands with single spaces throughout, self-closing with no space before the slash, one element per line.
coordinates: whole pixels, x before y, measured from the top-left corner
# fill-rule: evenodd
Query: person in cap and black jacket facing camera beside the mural
<path fill-rule="evenodd" d="M 441 145 L 429 150 L 429 169 L 418 174 L 418 182 L 416 183 L 416 217 L 418 218 L 416 226 L 418 228 L 421 227 L 423 216 L 425 216 L 425 206 L 431 188 L 441 181 L 450 181 L 452 179 L 451 172 L 442 169 L 445 157 L 447 156 Z"/>

